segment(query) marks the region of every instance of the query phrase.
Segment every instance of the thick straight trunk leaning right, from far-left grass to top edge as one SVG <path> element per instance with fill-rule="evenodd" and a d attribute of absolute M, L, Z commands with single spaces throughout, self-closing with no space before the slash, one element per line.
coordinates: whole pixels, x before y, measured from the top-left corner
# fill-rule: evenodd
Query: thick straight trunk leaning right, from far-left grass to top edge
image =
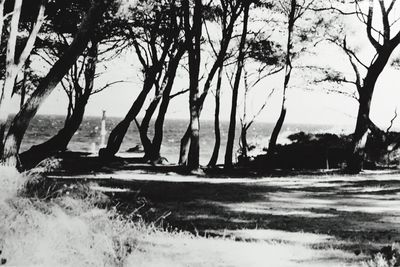
<path fill-rule="evenodd" d="M 18 151 L 30 121 L 36 115 L 44 100 L 86 49 L 105 10 L 105 2 L 105 0 L 96 0 L 92 3 L 71 45 L 53 65 L 46 77 L 41 80 L 23 108 L 14 117 L 4 143 L 3 164 L 17 166 Z"/>

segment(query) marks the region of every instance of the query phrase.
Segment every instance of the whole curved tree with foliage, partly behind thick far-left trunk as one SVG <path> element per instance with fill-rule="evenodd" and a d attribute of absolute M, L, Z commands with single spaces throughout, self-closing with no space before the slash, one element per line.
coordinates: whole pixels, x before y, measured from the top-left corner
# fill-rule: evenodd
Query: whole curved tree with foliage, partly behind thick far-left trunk
<path fill-rule="evenodd" d="M 47 34 L 44 38 L 39 38 L 35 47 L 35 54 L 40 60 L 52 66 L 62 57 L 69 47 L 73 34 L 77 31 L 76 25 L 79 24 L 79 17 L 84 16 L 87 9 L 87 3 L 82 1 L 72 2 L 69 5 L 65 2 L 53 2 L 47 14 Z M 117 10 L 117 7 L 110 5 L 108 13 L 115 15 Z M 60 16 L 68 17 L 69 20 L 60 20 Z M 73 18 L 76 19 L 72 23 L 71 20 Z M 97 63 L 101 60 L 112 58 L 119 51 L 118 49 L 109 48 L 114 44 L 112 42 L 114 41 L 113 38 L 120 35 L 118 30 L 114 29 L 115 26 L 113 24 L 112 20 L 104 18 L 102 25 L 96 29 L 95 34 L 91 37 L 85 51 L 78 57 L 77 61 L 61 80 L 61 87 L 68 99 L 64 126 L 49 140 L 37 144 L 20 154 L 23 168 L 33 167 L 44 158 L 50 157 L 57 152 L 65 151 L 71 138 L 82 123 L 89 98 L 93 94 L 121 82 L 113 81 L 102 87 L 94 86 L 95 79 L 100 75 L 96 71 Z M 103 31 L 104 29 L 107 29 L 107 31 Z M 99 47 L 101 47 L 100 50 Z M 24 79 L 25 76 L 26 72 L 24 72 Z M 22 96 L 21 94 L 21 102 Z"/>

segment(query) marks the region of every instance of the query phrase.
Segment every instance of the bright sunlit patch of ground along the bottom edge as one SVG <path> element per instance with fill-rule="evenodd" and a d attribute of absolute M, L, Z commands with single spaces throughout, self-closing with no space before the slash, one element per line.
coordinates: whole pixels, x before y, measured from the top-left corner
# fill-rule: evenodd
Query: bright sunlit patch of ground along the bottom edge
<path fill-rule="evenodd" d="M 298 244 L 165 235 L 147 241 L 142 251 L 130 256 L 131 262 L 128 258 L 131 266 L 346 266 L 354 260 L 340 250 L 313 250 Z"/>

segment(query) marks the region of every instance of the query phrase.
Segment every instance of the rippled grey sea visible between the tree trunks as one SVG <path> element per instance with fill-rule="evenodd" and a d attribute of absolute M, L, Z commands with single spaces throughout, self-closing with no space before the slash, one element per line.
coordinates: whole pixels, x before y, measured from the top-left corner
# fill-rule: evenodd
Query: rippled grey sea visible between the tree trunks
<path fill-rule="evenodd" d="M 64 116 L 56 115 L 37 115 L 31 122 L 28 128 L 25 138 L 21 145 L 21 152 L 29 149 L 32 145 L 40 144 L 53 135 L 55 135 L 64 124 Z M 107 118 L 106 129 L 107 137 L 110 131 L 114 128 L 121 118 Z M 164 125 L 164 139 L 161 148 L 162 156 L 166 157 L 170 163 L 176 163 L 179 158 L 179 146 L 180 139 L 183 136 L 188 125 L 186 120 L 169 119 L 165 121 Z M 252 127 L 248 130 L 248 143 L 254 144 L 257 148 L 253 153 L 261 153 L 264 147 L 267 147 L 269 136 L 272 132 L 274 124 L 255 122 Z M 85 151 L 95 152 L 98 151 L 100 145 L 100 128 L 101 128 L 101 117 L 85 117 L 79 130 L 75 133 L 72 138 L 68 149 L 72 151 Z M 317 133 L 317 132 L 348 132 L 348 126 L 334 126 L 334 125 L 309 125 L 309 124 L 285 124 L 282 128 L 280 139 L 278 142 L 287 142 L 286 137 L 292 133 L 299 131 Z M 221 148 L 219 154 L 219 163 L 223 162 L 225 145 L 228 132 L 228 122 L 221 122 Z M 151 125 L 149 129 L 149 135 L 153 135 L 153 127 Z M 239 136 L 240 136 L 240 123 L 236 126 L 236 152 L 239 149 Z M 106 139 L 107 140 L 107 139 Z M 121 145 L 120 152 L 124 153 L 129 148 L 140 145 L 139 133 L 137 131 L 135 123 L 132 123 L 125 139 Z M 214 146 L 214 125 L 213 121 L 201 121 L 200 129 L 200 163 L 207 164 Z M 141 156 L 140 153 L 131 153 L 132 156 Z M 234 155 L 235 157 L 235 155 Z"/>

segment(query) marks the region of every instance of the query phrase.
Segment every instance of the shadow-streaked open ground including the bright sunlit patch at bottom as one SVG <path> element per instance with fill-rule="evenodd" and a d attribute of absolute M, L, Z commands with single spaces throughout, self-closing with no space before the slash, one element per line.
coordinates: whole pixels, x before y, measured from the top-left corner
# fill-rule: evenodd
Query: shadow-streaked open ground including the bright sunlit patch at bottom
<path fill-rule="evenodd" d="M 150 242 L 171 260 L 186 255 L 182 266 L 353 266 L 400 242 L 400 173 L 393 171 L 229 179 L 123 170 L 50 178 L 88 178 L 121 210 L 139 197 L 148 220 L 212 237 Z"/>

